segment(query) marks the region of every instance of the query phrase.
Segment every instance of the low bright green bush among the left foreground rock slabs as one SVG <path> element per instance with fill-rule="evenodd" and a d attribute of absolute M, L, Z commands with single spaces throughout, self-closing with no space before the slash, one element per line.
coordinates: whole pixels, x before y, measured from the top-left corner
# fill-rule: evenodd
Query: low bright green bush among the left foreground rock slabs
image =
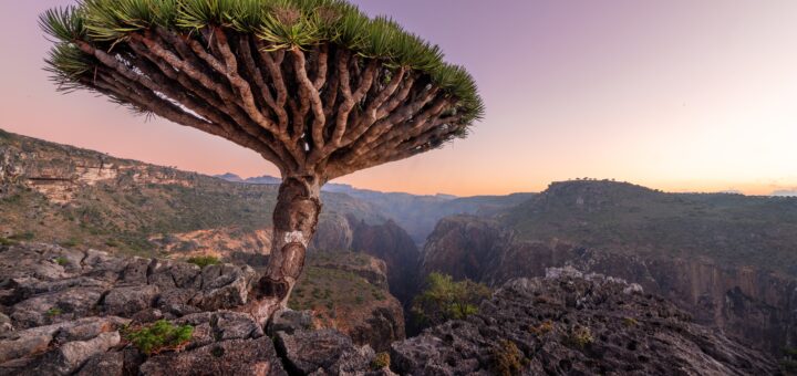
<path fill-rule="evenodd" d="M 193 335 L 194 326 L 174 325 L 166 320 L 158 320 L 147 326 L 123 331 L 124 338 L 146 355 L 168 349 L 179 349 L 190 341 Z"/>

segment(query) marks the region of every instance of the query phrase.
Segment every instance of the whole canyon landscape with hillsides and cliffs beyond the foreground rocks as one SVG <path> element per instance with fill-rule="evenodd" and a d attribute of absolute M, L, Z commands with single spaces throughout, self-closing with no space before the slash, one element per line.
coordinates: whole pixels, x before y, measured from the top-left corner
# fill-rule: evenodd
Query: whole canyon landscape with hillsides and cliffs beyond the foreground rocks
<path fill-rule="evenodd" d="M 268 260 L 278 180 L 246 180 L 0 133 L 0 247 L 214 257 L 256 270 Z M 289 304 L 356 346 L 387 351 L 403 338 L 433 271 L 498 289 L 551 268 L 636 283 L 695 324 L 774 356 L 795 345 L 795 198 L 609 180 L 474 198 L 332 184 L 322 198 L 308 272 Z"/>

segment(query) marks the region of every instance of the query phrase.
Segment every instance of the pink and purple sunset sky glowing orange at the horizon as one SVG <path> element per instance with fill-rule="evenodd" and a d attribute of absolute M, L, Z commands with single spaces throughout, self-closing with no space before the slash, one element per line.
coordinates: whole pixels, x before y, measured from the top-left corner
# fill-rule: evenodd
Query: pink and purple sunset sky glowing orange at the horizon
<path fill-rule="evenodd" d="M 613 178 L 669 191 L 797 190 L 797 1 L 356 0 L 439 44 L 487 112 L 466 139 L 337 182 L 501 195 Z M 0 1 L 0 128 L 180 169 L 278 175 L 256 153 L 42 71 L 43 10 Z"/>

